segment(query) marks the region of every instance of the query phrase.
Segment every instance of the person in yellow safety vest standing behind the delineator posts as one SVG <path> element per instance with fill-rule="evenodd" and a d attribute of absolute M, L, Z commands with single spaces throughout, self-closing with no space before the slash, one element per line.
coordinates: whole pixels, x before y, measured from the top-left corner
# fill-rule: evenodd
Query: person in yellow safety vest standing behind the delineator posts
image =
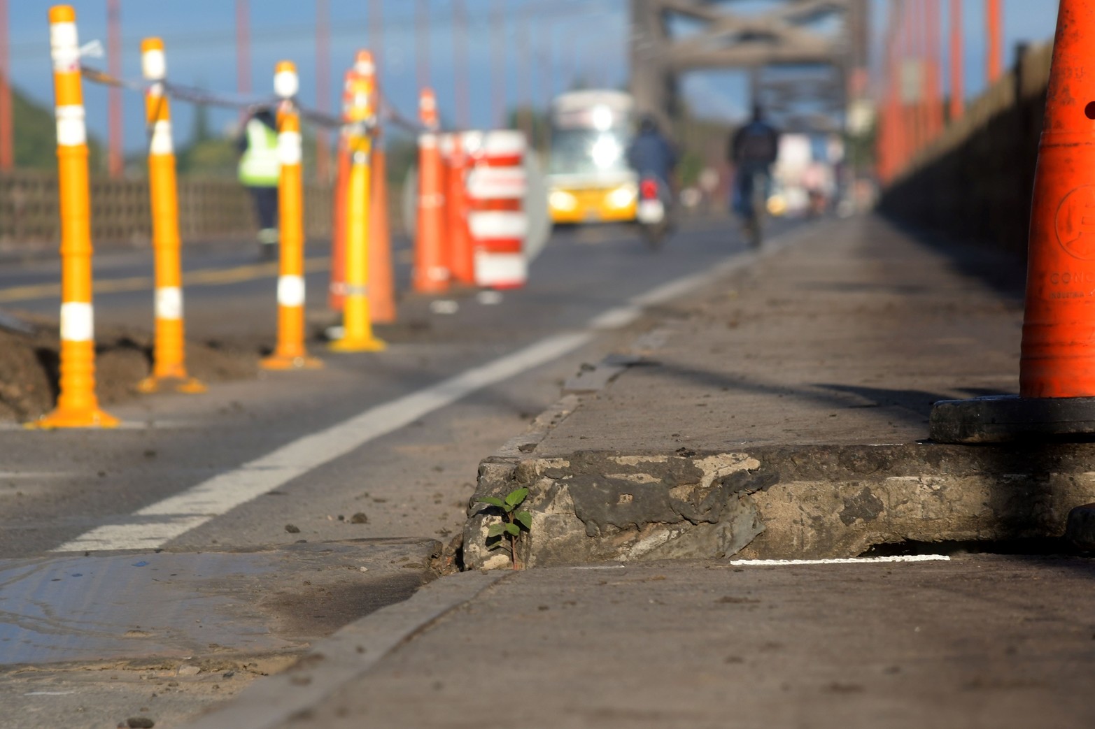
<path fill-rule="evenodd" d="M 237 141 L 240 182 L 251 192 L 258 216 L 258 250 L 263 258 L 277 251 L 277 183 L 281 163 L 277 155 L 277 120 L 268 108 L 254 112 Z"/>

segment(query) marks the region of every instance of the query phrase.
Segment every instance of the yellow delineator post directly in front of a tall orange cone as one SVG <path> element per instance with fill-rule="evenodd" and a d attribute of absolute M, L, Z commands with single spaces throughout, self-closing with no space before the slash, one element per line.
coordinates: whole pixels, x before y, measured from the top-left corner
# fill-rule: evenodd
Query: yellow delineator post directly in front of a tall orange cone
<path fill-rule="evenodd" d="M 372 335 L 369 314 L 369 208 L 371 195 L 372 128 L 376 126 L 376 67 L 371 54 L 358 54 L 353 79 L 347 148 L 350 154 L 346 182 L 346 286 L 343 301 L 343 337 L 332 351 L 381 351 L 387 345 Z"/>

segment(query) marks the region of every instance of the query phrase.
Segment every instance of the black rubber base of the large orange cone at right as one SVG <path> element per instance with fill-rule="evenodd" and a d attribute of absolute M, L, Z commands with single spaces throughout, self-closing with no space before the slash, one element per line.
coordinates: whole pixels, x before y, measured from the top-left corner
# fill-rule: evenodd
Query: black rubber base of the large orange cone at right
<path fill-rule="evenodd" d="M 1095 397 L 942 400 L 932 406 L 929 428 L 931 439 L 940 443 L 1091 440 L 1095 437 Z"/>

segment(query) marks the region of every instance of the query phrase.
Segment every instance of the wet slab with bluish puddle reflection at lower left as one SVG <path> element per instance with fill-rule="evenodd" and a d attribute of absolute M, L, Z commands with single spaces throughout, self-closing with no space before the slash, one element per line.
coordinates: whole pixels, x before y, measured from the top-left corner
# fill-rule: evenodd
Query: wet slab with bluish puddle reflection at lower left
<path fill-rule="evenodd" d="M 429 575 L 403 565 L 428 564 L 438 546 L 361 540 L 0 560 L 0 669 L 295 653 L 411 597 Z"/>

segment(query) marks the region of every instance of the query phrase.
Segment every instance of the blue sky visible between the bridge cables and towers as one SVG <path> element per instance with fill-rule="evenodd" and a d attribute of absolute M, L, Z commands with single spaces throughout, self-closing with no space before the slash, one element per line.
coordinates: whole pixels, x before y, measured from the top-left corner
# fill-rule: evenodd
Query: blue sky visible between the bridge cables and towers
<path fill-rule="evenodd" d="M 367 0 L 327 0 L 332 25 L 332 89 L 341 84 L 343 70 L 354 51 L 369 42 Z M 382 80 L 392 102 L 404 114 L 416 109 L 416 0 L 372 0 L 382 9 Z M 425 0 L 430 14 L 430 77 L 442 114 L 454 116 L 453 21 L 451 0 Z M 920 2 L 922 0 L 909 0 Z M 943 5 L 949 0 L 943 0 Z M 214 91 L 235 90 L 233 0 L 120 0 L 123 74 L 140 76 L 140 39 L 164 38 L 169 72 L 173 80 Z M 765 0 L 739 0 L 749 10 Z M 884 0 L 872 0 L 876 9 L 876 37 L 884 24 Z M 53 2 L 9 0 L 11 77 L 33 99 L 51 103 L 47 11 Z M 81 43 L 106 42 L 106 0 L 76 0 Z M 1004 0 L 1006 60 L 1011 62 L 1019 40 L 1052 37 L 1057 3 L 1053 0 Z M 470 100 L 473 126 L 492 121 L 492 13 L 505 12 L 505 78 L 508 105 L 534 97 L 543 105 L 552 94 L 569 86 L 575 77 L 601 85 L 626 81 L 626 0 L 465 0 L 470 56 Z M 965 68 L 968 94 L 984 86 L 984 0 L 964 0 Z M 946 13 L 944 12 L 944 15 Z M 254 88 L 269 89 L 274 63 L 296 61 L 301 73 L 301 99 L 315 103 L 315 5 L 307 0 L 251 0 L 252 78 Z M 945 32 L 945 28 L 944 28 Z M 943 36 L 946 37 L 945 35 Z M 90 60 L 99 67 L 105 59 Z M 523 79 L 531 74 L 532 86 Z M 705 115 L 733 118 L 746 106 L 745 79 L 736 71 L 702 71 L 685 77 L 683 90 L 690 104 Z M 106 93 L 93 84 L 85 88 L 88 123 L 105 139 Z M 337 101 L 337 100 L 336 100 Z M 177 137 L 185 139 L 193 126 L 186 104 L 175 107 Z M 232 123 L 230 112 L 215 112 L 215 128 Z M 140 149 L 143 119 L 136 94 L 125 97 L 126 147 Z"/>

